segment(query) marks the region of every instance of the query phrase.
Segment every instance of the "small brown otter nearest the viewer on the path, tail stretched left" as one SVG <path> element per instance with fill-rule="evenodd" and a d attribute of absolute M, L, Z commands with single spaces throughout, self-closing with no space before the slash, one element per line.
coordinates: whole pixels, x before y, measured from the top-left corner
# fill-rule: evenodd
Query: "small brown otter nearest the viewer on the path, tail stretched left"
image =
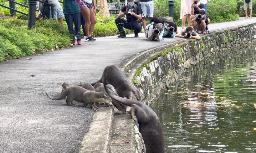
<path fill-rule="evenodd" d="M 84 106 L 89 104 L 91 108 L 97 111 L 98 102 L 103 102 L 107 106 L 112 106 L 111 98 L 105 92 L 95 92 L 86 90 L 80 86 L 69 86 L 58 97 L 51 97 L 45 92 L 46 95 L 52 100 L 59 100 L 67 96 L 66 103 L 70 106 L 77 106 L 72 103 L 73 100 L 83 102 Z"/>

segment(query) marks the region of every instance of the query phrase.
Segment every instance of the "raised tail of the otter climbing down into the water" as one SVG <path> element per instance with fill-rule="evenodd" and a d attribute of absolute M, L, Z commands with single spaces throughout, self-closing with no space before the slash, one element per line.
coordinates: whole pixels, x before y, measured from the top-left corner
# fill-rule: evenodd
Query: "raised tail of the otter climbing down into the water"
<path fill-rule="evenodd" d="M 137 104 L 138 105 L 138 103 L 140 103 L 139 101 L 135 101 L 135 100 L 131 100 L 131 99 L 122 98 L 120 96 L 116 96 L 115 94 L 113 94 L 113 91 L 111 91 L 109 88 L 106 87 L 106 85 L 107 85 L 107 82 L 104 82 L 104 88 L 105 88 L 106 92 L 114 100 L 116 100 L 116 101 L 118 101 L 118 102 L 120 102 L 120 103 L 122 103 L 126 106 L 130 106 L 130 107 L 131 107 L 132 104 Z"/>

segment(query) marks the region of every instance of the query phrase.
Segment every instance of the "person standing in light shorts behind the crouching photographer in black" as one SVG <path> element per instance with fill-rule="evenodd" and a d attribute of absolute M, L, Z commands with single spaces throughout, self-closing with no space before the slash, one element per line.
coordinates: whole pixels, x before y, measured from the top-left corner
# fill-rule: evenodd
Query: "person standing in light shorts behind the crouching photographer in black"
<path fill-rule="evenodd" d="M 149 23 L 151 23 L 151 18 L 154 14 L 154 5 L 153 0 L 140 0 L 141 4 L 141 14 L 142 14 L 142 27 L 145 30 L 146 28 L 146 16 L 148 16 Z"/>

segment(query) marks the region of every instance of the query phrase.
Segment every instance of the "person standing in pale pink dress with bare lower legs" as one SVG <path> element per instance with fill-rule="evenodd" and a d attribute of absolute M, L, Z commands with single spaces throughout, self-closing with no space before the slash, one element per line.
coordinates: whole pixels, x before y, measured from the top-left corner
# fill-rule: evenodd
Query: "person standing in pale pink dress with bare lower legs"
<path fill-rule="evenodd" d="M 182 19 L 182 29 L 185 28 L 185 22 L 187 18 L 187 26 L 190 26 L 191 21 L 191 0 L 181 0 L 181 19 Z"/>

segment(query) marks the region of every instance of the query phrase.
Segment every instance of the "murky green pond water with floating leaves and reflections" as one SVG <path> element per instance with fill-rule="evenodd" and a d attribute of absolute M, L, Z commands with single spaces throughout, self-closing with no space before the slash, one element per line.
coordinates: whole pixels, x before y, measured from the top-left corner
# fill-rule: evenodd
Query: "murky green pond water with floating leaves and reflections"
<path fill-rule="evenodd" d="M 166 152 L 256 152 L 256 46 L 207 59 L 153 110 Z"/>

